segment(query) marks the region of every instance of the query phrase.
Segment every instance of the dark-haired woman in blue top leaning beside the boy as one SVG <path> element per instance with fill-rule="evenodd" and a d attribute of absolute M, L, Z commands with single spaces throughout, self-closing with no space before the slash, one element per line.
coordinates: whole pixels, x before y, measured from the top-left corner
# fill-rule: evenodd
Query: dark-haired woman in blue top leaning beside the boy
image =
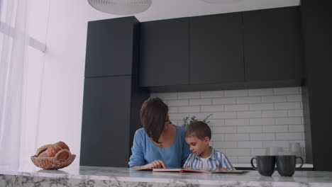
<path fill-rule="evenodd" d="M 140 108 L 140 123 L 131 148 L 134 169 L 179 168 L 191 153 L 184 128 L 171 125 L 168 107 L 160 98 L 149 98 Z"/>

